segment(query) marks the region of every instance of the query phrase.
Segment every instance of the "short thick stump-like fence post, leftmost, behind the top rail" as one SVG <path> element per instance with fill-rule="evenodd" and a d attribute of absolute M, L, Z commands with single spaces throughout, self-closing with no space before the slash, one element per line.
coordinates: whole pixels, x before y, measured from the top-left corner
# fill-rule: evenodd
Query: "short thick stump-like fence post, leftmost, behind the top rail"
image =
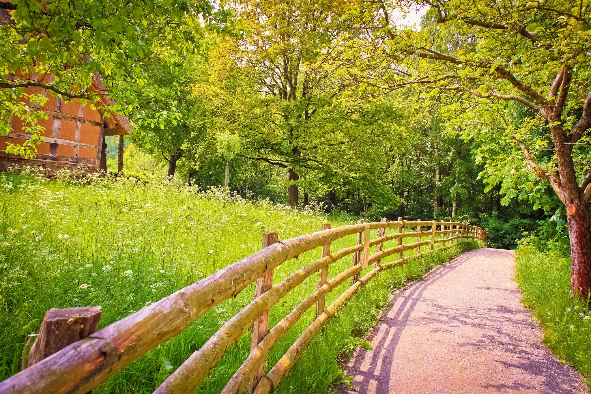
<path fill-rule="evenodd" d="M 99 319 L 99 306 L 51 308 L 45 312 L 39 335 L 31 346 L 27 366 L 33 366 L 69 344 L 94 334 Z"/>

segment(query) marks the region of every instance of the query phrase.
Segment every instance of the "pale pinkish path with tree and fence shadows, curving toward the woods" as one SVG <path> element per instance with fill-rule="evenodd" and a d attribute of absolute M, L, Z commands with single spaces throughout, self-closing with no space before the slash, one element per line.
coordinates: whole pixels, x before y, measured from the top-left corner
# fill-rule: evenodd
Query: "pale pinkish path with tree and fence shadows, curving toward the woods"
<path fill-rule="evenodd" d="M 357 392 L 587 392 L 541 344 L 514 269 L 511 250 L 479 249 L 402 289 L 348 366 Z"/>

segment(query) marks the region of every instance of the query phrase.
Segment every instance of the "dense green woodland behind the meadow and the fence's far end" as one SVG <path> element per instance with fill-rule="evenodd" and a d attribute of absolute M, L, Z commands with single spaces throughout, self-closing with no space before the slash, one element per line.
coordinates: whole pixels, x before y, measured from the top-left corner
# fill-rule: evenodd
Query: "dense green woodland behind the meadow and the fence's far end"
<path fill-rule="evenodd" d="M 542 243 L 567 246 L 564 207 L 504 196 L 480 141 L 450 121 L 455 97 L 359 82 L 350 64 L 334 61 L 339 40 L 358 29 L 352 8 L 337 3 L 236 2 L 242 34 L 216 36 L 198 56 L 142 64 L 152 89 L 138 89 L 131 119 L 174 115 L 125 137 L 126 174 L 202 189 L 226 182 L 243 198 L 322 204 L 345 217 L 454 218 L 482 226 L 496 248 L 515 248 L 534 230 Z M 434 10 L 406 9 L 423 15 L 409 30 L 439 31 L 453 47 L 469 43 L 469 35 L 441 31 Z M 406 15 L 397 16 L 404 24 Z M 109 171 L 117 171 L 118 140 L 106 142 Z M 557 201 L 551 188 L 544 194 Z"/>

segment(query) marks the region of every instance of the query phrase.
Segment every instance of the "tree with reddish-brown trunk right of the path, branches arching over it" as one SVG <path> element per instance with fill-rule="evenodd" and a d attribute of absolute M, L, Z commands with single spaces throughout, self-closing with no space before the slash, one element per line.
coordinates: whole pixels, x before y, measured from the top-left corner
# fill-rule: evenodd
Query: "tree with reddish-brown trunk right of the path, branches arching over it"
<path fill-rule="evenodd" d="M 348 59 L 370 51 L 380 55 L 366 62 L 372 72 L 360 83 L 385 92 L 414 85 L 426 95 L 453 96 L 456 105 L 447 112 L 452 128 L 482 144 L 486 181 L 489 187 L 502 185 L 502 203 L 519 196 L 549 207 L 551 196 L 539 193 L 549 184 L 567 211 L 571 293 L 586 297 L 591 289 L 589 4 L 419 3 L 431 7 L 420 32 L 397 30 L 383 3 L 360 3 L 362 33 L 346 38 L 348 48 L 355 48 Z"/>

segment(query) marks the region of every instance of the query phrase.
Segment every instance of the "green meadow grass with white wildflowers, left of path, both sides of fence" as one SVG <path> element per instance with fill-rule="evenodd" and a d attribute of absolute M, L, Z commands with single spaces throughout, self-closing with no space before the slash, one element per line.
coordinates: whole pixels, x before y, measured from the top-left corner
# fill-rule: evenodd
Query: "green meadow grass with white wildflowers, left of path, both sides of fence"
<path fill-rule="evenodd" d="M 27 335 L 38 331 L 50 308 L 102 305 L 102 328 L 251 255 L 261 248 L 264 232 L 278 231 L 280 239 L 288 239 L 320 230 L 322 223 L 331 222 L 333 227 L 352 223 L 343 217 L 331 221 L 320 211 L 238 197 L 222 209 L 220 193 L 215 190 L 200 193 L 197 187 L 168 182 L 60 179 L 48 181 L 35 173 L 0 175 L 0 380 L 20 370 Z M 414 241 L 404 239 L 404 243 Z M 332 249 L 355 243 L 356 237 L 348 236 L 333 242 Z M 421 278 L 432 266 L 449 261 L 462 250 L 476 247 L 476 243 L 465 243 L 379 275 L 313 341 L 278 392 L 326 392 L 340 374 L 336 361 L 361 343 L 358 337 L 374 323 L 393 289 Z M 428 246 L 423 248 L 428 250 Z M 275 282 L 318 258 L 320 248 L 283 263 L 275 269 Z M 391 256 L 384 262 L 394 259 Z M 352 256 L 334 263 L 329 277 L 351 265 Z M 311 294 L 316 281 L 317 275 L 312 275 L 272 307 L 271 324 Z M 346 281 L 328 294 L 327 305 L 349 285 Z M 251 285 L 238 297 L 213 308 L 93 392 L 152 392 L 247 305 L 253 291 Z M 271 351 L 268 368 L 313 321 L 313 309 Z M 249 334 L 245 334 L 196 392 L 220 392 L 248 356 L 249 342 Z"/>

